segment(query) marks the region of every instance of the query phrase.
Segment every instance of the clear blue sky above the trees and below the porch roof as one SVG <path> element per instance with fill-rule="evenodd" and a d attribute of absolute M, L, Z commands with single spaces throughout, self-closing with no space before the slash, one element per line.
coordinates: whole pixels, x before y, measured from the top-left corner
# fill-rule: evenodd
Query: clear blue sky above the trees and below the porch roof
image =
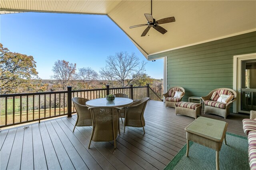
<path fill-rule="evenodd" d="M 12 52 L 32 55 L 38 76 L 50 79 L 57 60 L 99 72 L 106 57 L 134 52 L 146 61 L 146 73 L 163 78 L 163 59 L 147 61 L 127 35 L 107 16 L 27 12 L 0 15 L 0 42 Z"/>

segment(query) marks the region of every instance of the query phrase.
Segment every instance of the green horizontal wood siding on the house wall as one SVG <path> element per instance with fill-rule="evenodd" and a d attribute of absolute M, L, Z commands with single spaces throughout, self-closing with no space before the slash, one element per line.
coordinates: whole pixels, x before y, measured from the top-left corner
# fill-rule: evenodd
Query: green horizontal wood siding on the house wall
<path fill-rule="evenodd" d="M 256 31 L 166 51 L 148 56 L 149 60 L 167 56 L 167 84 L 181 86 L 190 96 L 206 96 L 216 88 L 233 89 L 234 55 L 256 53 Z M 232 108 L 231 110 L 232 111 Z"/>

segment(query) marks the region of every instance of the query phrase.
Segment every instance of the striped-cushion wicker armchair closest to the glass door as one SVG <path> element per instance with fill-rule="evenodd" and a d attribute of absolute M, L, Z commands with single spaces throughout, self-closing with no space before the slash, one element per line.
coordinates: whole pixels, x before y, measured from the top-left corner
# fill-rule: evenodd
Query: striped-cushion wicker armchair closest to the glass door
<path fill-rule="evenodd" d="M 234 97 L 230 102 L 225 104 L 217 102 L 213 94 L 216 94 L 216 98 L 218 98 L 217 95 L 220 96 L 221 94 L 234 95 Z M 204 101 L 204 113 L 213 113 L 226 119 L 229 115 L 229 108 L 231 104 L 236 100 L 236 92 L 230 88 L 217 88 L 212 90 L 207 96 L 201 98 Z"/>

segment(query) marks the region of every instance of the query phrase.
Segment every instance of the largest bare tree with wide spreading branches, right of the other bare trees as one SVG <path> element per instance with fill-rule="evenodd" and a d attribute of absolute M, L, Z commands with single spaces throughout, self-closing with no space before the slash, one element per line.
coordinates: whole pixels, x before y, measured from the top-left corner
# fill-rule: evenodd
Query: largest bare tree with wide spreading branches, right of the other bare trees
<path fill-rule="evenodd" d="M 145 71 L 146 63 L 140 62 L 140 59 L 132 53 L 116 53 L 108 56 L 106 67 L 101 68 L 100 74 L 105 80 L 116 80 L 122 87 L 128 86 L 134 78 Z"/>

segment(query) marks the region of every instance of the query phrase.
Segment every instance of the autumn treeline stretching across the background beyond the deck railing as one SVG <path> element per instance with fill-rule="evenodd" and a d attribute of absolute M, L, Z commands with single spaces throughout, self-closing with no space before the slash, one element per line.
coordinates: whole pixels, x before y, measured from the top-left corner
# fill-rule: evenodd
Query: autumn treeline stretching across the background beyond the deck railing
<path fill-rule="evenodd" d="M 145 73 L 144 61 L 134 54 L 119 52 L 106 57 L 106 66 L 99 73 L 90 67 L 76 68 L 76 63 L 58 60 L 52 67 L 54 80 L 42 80 L 36 71 L 32 56 L 10 52 L 0 43 L 0 92 L 1 94 L 146 86 L 150 84 L 160 96 L 163 80 L 156 80 Z"/>

